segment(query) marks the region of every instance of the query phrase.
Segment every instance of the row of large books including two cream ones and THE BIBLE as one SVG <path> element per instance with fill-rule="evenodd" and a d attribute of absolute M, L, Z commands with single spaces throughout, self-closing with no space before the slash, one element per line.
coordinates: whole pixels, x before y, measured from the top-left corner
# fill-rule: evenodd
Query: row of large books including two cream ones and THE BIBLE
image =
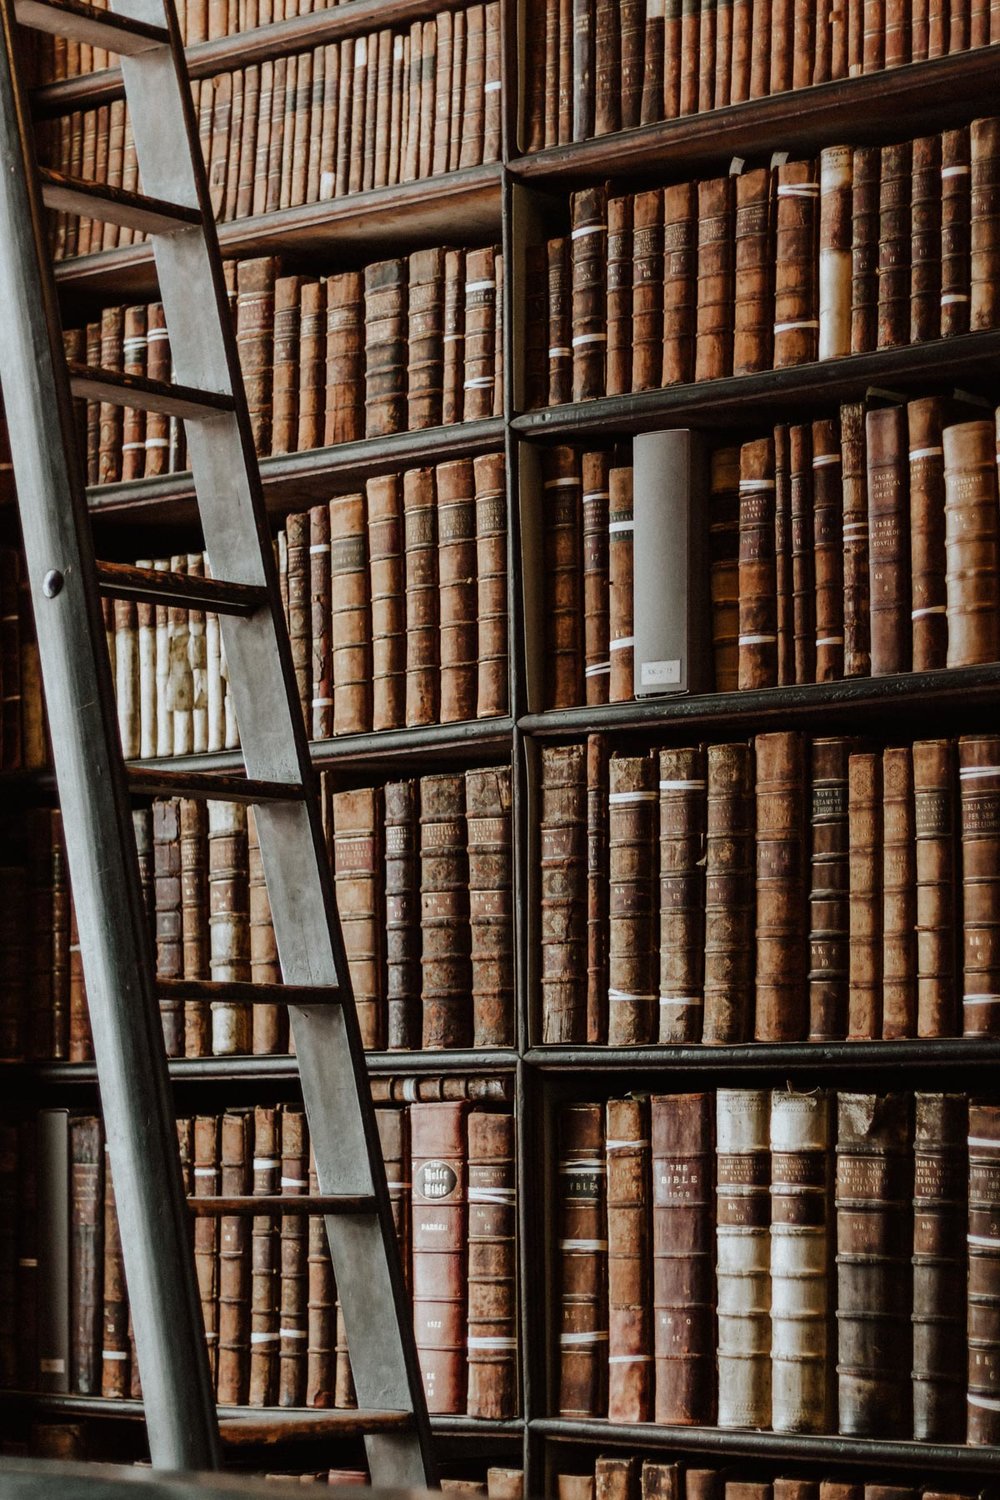
<path fill-rule="evenodd" d="M 564 1106 L 559 1412 L 996 1443 L 997 1152 L 964 1094 Z"/>

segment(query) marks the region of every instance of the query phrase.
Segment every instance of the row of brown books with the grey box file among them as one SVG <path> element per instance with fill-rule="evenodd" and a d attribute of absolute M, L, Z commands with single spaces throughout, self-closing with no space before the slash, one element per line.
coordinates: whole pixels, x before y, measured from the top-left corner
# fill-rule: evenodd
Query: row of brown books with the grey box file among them
<path fill-rule="evenodd" d="M 652 442 L 663 462 L 643 464 Z M 546 708 L 1000 660 L 991 404 L 852 402 L 711 452 L 684 429 L 553 447 L 541 496 Z M 678 555 L 690 627 L 660 639 Z M 687 680 L 657 682 L 651 657 Z"/>

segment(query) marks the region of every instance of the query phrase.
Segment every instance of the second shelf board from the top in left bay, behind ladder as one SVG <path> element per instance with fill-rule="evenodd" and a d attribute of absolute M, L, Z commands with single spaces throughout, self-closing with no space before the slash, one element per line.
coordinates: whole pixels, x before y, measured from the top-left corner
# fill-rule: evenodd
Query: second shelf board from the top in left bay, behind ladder
<path fill-rule="evenodd" d="M 352 0 L 358 3 L 358 0 Z M 391 188 L 346 194 L 298 208 L 277 208 L 219 225 L 226 258 L 282 255 L 295 266 L 321 272 L 361 264 L 402 243 L 489 243 L 501 232 L 501 166 L 466 166 Z M 153 246 L 124 244 L 96 255 L 55 262 L 55 284 L 64 297 L 82 302 L 141 302 L 159 296 Z"/>

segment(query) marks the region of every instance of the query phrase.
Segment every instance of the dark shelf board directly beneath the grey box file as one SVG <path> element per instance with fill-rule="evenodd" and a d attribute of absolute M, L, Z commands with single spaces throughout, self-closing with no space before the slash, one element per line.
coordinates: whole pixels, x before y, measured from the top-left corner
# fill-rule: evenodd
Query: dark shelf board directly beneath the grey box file
<path fill-rule="evenodd" d="M 568 738 L 594 732 L 642 734 L 667 730 L 727 735 L 753 734 L 796 724 L 828 734 L 889 723 L 909 734 L 918 718 L 927 734 L 927 716 L 948 712 L 934 734 L 952 734 L 960 720 L 1000 700 L 1000 663 L 946 668 L 937 672 L 900 672 L 895 676 L 852 676 L 840 682 L 802 682 L 798 687 L 762 687 L 742 693 L 697 693 L 645 698 L 630 704 L 552 708 L 525 714 L 517 723 L 538 738 Z"/>

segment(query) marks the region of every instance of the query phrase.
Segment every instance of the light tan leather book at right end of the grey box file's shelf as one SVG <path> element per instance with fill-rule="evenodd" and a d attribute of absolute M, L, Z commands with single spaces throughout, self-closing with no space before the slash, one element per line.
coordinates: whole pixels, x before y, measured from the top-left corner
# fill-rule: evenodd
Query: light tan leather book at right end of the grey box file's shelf
<path fill-rule="evenodd" d="M 945 428 L 948 666 L 1000 657 L 1000 514 L 993 422 Z"/>

